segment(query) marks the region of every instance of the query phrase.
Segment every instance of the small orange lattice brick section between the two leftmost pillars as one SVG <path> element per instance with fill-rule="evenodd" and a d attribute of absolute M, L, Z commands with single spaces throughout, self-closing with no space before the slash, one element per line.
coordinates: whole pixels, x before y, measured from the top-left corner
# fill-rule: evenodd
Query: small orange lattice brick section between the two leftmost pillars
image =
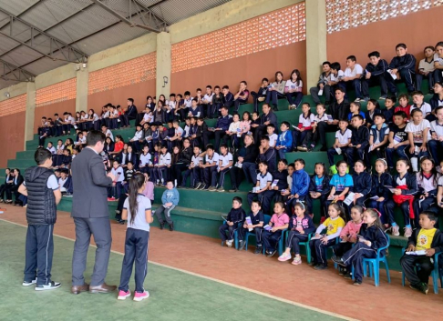
<path fill-rule="evenodd" d="M 75 99 L 77 95 L 77 78 L 67 79 L 61 83 L 48 85 L 36 90 L 36 107 L 51 105 Z"/>

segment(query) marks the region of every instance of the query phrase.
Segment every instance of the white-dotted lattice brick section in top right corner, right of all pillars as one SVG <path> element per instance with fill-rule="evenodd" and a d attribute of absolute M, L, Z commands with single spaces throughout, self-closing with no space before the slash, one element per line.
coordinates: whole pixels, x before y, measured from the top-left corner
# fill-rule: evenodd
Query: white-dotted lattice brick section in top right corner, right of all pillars
<path fill-rule="evenodd" d="M 329 34 L 443 5 L 443 0 L 326 0 Z"/>

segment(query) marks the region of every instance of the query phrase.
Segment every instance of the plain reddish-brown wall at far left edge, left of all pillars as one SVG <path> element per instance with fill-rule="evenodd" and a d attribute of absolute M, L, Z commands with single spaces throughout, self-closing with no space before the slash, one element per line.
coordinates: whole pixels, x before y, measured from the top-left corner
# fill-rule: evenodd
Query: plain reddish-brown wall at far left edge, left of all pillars
<path fill-rule="evenodd" d="M 7 160 L 15 158 L 15 153 L 23 150 L 25 144 L 25 114 L 20 112 L 0 117 L 1 150 L 0 167 L 7 166 Z M 3 173 L 1 174 L 3 175 Z"/>

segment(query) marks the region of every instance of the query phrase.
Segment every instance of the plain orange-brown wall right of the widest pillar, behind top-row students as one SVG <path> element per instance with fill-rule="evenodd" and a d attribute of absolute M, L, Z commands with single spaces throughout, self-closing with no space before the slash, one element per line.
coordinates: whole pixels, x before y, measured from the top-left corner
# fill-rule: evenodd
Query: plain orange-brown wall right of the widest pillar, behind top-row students
<path fill-rule="evenodd" d="M 365 66 L 369 62 L 367 54 L 377 50 L 390 62 L 396 55 L 396 45 L 405 43 L 418 64 L 424 58 L 425 46 L 443 41 L 443 34 L 437 27 L 442 16 L 443 5 L 332 33 L 327 35 L 327 59 L 338 61 L 344 69 L 346 56 L 355 55 L 357 62 Z"/>

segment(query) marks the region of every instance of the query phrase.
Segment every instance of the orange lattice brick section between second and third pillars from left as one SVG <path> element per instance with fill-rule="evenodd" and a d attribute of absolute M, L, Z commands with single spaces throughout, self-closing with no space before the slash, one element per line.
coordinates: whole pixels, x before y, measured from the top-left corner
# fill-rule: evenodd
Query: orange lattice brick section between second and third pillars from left
<path fill-rule="evenodd" d="M 89 73 L 88 95 L 155 79 L 156 59 L 154 52 Z"/>

